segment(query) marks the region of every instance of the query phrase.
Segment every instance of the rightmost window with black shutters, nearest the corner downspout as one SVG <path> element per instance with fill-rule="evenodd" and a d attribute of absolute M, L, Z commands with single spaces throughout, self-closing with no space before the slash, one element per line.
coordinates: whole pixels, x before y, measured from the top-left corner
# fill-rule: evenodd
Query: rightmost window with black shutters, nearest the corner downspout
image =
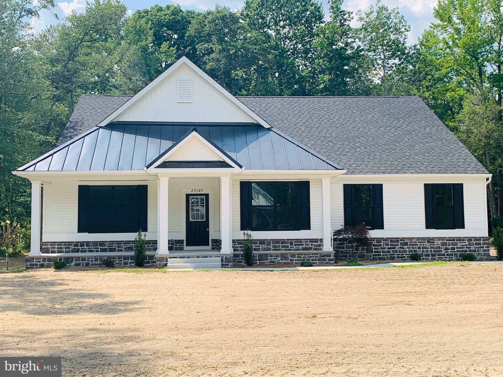
<path fill-rule="evenodd" d="M 425 183 L 426 229 L 463 229 L 463 183 Z"/>

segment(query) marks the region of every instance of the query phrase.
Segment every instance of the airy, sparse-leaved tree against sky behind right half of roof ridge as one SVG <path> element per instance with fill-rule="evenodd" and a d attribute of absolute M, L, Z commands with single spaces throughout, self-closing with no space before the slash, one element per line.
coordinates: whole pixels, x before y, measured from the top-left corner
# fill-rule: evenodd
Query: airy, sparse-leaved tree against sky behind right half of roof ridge
<path fill-rule="evenodd" d="M 410 26 L 398 8 L 390 10 L 381 5 L 380 0 L 367 11 L 358 11 L 357 15 L 358 21 L 362 23 L 356 30 L 357 39 L 372 65 L 372 77 L 382 84 L 383 93 L 388 96 L 390 87 L 387 76 L 406 62 Z"/>

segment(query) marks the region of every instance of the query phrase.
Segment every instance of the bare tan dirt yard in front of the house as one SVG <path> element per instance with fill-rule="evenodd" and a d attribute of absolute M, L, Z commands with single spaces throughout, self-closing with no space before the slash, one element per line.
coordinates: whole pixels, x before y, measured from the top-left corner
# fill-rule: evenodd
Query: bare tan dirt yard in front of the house
<path fill-rule="evenodd" d="M 501 376 L 503 264 L 0 275 L 0 355 L 64 376 Z"/>

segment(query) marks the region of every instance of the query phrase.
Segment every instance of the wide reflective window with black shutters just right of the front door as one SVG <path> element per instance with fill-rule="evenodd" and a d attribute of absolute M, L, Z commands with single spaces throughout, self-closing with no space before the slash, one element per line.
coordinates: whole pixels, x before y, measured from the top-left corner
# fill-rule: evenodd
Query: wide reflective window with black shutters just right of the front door
<path fill-rule="evenodd" d="M 241 182 L 241 230 L 310 229 L 309 182 Z"/>

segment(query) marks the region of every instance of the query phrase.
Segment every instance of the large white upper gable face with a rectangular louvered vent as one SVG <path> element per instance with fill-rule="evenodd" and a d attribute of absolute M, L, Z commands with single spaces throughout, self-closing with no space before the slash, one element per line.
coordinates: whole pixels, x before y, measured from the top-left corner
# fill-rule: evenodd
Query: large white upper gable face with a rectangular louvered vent
<path fill-rule="evenodd" d="M 187 64 L 152 86 L 113 121 L 257 122 Z"/>

